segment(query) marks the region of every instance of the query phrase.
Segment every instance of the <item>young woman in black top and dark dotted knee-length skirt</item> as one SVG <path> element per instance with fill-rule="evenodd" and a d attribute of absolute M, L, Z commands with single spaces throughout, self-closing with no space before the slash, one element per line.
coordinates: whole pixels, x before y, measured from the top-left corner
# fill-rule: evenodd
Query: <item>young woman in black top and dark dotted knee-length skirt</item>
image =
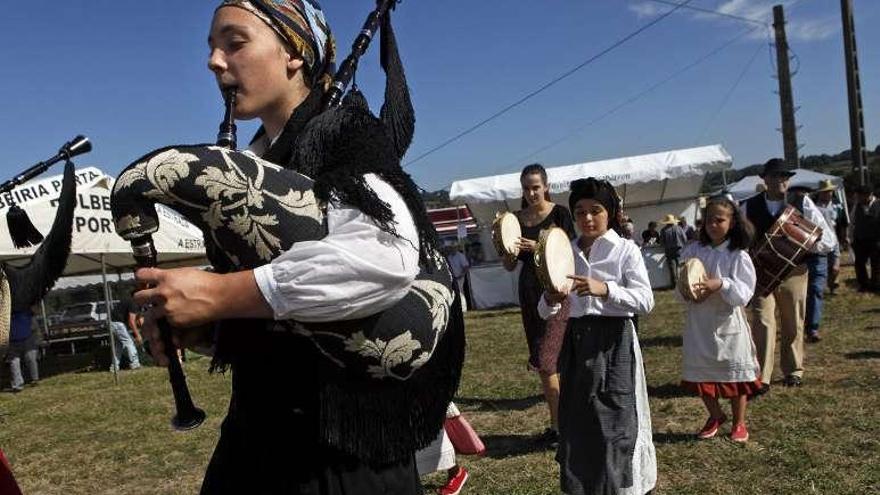
<path fill-rule="evenodd" d="M 555 448 L 558 438 L 557 409 L 559 407 L 556 357 L 562 345 L 565 315 L 560 314 L 553 322 L 555 324 L 548 324 L 541 319 L 535 309 L 543 291 L 535 271 L 535 247 L 538 235 L 544 229 L 559 227 L 572 239 L 575 232 L 569 211 L 564 206 L 550 201 L 547 171 L 543 166 L 537 163 L 526 166 L 520 173 L 519 181 L 523 190 L 522 209 L 516 212 L 522 231 L 522 236 L 516 243 L 519 255 L 516 258 L 505 258 L 504 266 L 509 271 L 513 271 L 517 262 L 522 261 L 522 269 L 519 272 L 519 306 L 522 309 L 523 328 L 529 346 L 529 369 L 538 371 L 541 377 L 541 388 L 547 407 L 550 409 L 552 425 L 544 430 L 539 439 Z"/>

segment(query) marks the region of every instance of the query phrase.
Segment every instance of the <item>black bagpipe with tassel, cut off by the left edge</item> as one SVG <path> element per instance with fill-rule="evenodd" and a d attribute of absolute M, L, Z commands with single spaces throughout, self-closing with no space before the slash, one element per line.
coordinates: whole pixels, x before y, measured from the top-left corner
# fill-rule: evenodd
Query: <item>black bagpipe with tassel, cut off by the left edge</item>
<path fill-rule="evenodd" d="M 28 311 L 55 285 L 67 266 L 73 235 L 73 213 L 76 205 L 75 168 L 71 159 L 88 153 L 92 144 L 85 136 L 76 136 L 61 146 L 53 157 L 42 161 L 0 184 L 10 205 L 6 220 L 9 236 L 17 248 L 40 244 L 27 264 L 13 266 L 0 263 L 0 358 L 6 355 L 9 342 L 10 314 Z M 46 237 L 34 227 L 27 213 L 14 203 L 12 192 L 17 186 L 46 172 L 52 165 L 65 161 L 58 209 Z M 42 244 L 41 244 L 42 243 Z"/>

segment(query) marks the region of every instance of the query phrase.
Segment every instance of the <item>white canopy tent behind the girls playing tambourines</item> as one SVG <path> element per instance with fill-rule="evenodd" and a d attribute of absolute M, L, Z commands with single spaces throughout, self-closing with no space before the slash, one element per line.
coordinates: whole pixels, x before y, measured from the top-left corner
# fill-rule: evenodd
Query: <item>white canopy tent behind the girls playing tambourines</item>
<path fill-rule="evenodd" d="M 693 225 L 704 177 L 732 165 L 730 154 L 721 145 L 712 145 L 548 168 L 547 179 L 551 200 L 565 206 L 568 206 L 568 188 L 572 181 L 586 177 L 608 180 L 617 188 L 638 234 L 648 222 L 659 221 L 670 213 L 686 218 Z M 519 172 L 456 181 L 449 192 L 449 199 L 467 204 L 483 227 L 480 235 L 486 260 L 498 258 L 488 226 L 496 212 L 520 209 L 521 198 Z M 662 249 L 645 249 L 643 255 L 651 285 L 669 286 Z M 516 304 L 515 283 L 515 277 L 507 275 L 499 265 L 471 269 L 472 295 L 477 308 Z M 511 284 L 514 287 L 509 287 Z"/>

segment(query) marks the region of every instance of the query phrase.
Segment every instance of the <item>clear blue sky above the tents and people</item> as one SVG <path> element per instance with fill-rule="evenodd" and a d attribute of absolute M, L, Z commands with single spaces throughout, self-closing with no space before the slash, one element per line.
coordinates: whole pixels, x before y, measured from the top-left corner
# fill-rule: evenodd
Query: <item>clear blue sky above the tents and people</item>
<path fill-rule="evenodd" d="M 206 69 L 206 38 L 216 3 L 69 0 L 4 6 L 0 180 L 51 156 L 78 133 L 94 143 L 78 165 L 114 174 L 160 146 L 213 141 L 222 104 Z M 769 22 L 774 3 L 779 0 L 692 0 L 691 5 Z M 783 3 L 789 5 L 789 41 L 799 59 L 793 84 L 801 107 L 802 153 L 846 149 L 840 2 Z M 880 144 L 880 2 L 854 3 L 867 140 L 873 149 Z M 340 52 L 347 54 L 373 2 L 324 0 L 322 5 Z M 395 27 L 417 117 L 416 138 L 404 161 L 671 8 L 656 0 L 404 0 L 395 12 Z M 407 170 L 434 190 L 457 179 L 518 171 L 535 161 L 565 165 L 701 144 L 723 144 L 735 166 L 781 155 L 775 69 L 762 27 L 620 106 L 752 27 L 679 10 Z M 358 77 L 374 108 L 381 105 L 383 81 L 374 47 Z M 239 141 L 246 142 L 254 129 L 240 123 Z"/>

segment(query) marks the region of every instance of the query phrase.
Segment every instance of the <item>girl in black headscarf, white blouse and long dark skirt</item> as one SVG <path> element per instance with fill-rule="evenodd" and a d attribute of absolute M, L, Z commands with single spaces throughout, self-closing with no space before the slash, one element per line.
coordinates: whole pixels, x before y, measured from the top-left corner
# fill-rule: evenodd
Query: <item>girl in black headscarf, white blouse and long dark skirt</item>
<path fill-rule="evenodd" d="M 648 270 L 639 247 L 617 233 L 621 205 L 610 183 L 576 180 L 568 201 L 581 231 L 570 292 L 545 292 L 537 308 L 550 318 L 570 305 L 559 354 L 562 491 L 647 493 L 657 461 L 633 320 L 654 307 Z"/>

